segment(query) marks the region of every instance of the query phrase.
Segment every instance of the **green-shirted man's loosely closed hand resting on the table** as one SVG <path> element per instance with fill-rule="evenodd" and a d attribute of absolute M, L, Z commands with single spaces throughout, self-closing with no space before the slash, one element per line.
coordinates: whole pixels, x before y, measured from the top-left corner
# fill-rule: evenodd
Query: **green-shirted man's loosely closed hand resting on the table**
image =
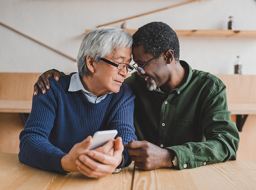
<path fill-rule="evenodd" d="M 175 153 L 168 149 L 160 148 L 148 141 L 132 140 L 124 145 L 134 165 L 144 170 L 155 170 L 158 168 L 170 168 Z"/>

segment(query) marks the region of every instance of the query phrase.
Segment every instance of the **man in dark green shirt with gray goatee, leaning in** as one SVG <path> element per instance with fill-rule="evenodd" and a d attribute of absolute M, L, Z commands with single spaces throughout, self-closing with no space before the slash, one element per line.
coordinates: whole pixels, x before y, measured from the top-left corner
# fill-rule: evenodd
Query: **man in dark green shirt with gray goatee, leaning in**
<path fill-rule="evenodd" d="M 124 147 L 134 164 L 145 170 L 182 170 L 236 160 L 239 134 L 230 121 L 224 83 L 179 60 L 179 40 L 167 24 L 148 23 L 132 37 L 138 73 L 124 83 L 136 95 L 134 127 L 139 141 Z M 49 75 L 54 76 L 43 76 L 47 88 Z M 46 91 L 40 80 L 39 86 Z"/>

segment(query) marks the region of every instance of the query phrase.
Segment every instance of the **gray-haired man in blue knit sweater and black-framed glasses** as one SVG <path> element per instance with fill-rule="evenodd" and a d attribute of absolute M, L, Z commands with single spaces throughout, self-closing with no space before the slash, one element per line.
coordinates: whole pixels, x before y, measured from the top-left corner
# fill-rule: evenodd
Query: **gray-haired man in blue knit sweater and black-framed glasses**
<path fill-rule="evenodd" d="M 78 73 L 50 78 L 51 89 L 33 97 L 20 133 L 19 160 L 32 167 L 80 171 L 100 178 L 131 159 L 123 144 L 137 140 L 134 94 L 124 84 L 131 61 L 132 36 L 120 28 L 97 28 L 81 44 Z M 96 131 L 116 129 L 117 138 L 88 150 Z M 123 142 L 122 142 L 123 140 Z"/>

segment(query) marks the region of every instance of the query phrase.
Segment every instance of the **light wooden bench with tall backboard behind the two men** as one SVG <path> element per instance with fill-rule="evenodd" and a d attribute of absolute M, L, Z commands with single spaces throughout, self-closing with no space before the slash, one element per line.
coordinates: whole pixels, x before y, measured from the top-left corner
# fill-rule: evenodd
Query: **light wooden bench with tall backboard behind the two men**
<path fill-rule="evenodd" d="M 24 113 L 30 113 L 33 86 L 40 75 L 0 73 L 0 112 L 20 113 L 21 118 Z M 236 115 L 237 128 L 241 131 L 247 115 L 256 114 L 256 75 L 216 76 L 227 86 L 228 110 Z"/>

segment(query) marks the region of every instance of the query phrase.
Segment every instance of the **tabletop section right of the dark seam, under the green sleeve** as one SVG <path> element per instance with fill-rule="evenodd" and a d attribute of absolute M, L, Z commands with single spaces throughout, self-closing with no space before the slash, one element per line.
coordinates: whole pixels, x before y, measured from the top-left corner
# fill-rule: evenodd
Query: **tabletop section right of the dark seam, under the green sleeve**
<path fill-rule="evenodd" d="M 227 161 L 193 169 L 135 170 L 133 190 L 256 189 L 256 161 Z"/>

